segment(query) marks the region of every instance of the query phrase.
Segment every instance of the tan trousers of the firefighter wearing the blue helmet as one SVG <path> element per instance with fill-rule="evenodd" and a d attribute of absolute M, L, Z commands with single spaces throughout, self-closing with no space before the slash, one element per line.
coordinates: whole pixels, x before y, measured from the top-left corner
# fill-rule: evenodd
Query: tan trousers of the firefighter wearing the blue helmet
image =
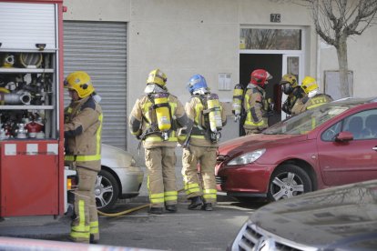
<path fill-rule="evenodd" d="M 216 203 L 216 151 L 216 147 L 206 146 L 189 146 L 183 149 L 182 176 L 188 199 L 203 196 L 205 203 Z"/>

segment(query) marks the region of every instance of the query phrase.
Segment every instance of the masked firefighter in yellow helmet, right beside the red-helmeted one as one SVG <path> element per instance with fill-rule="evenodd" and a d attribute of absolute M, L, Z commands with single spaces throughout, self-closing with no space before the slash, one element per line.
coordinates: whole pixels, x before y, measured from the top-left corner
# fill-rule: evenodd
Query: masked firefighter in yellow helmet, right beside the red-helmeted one
<path fill-rule="evenodd" d="M 282 92 L 285 95 L 288 95 L 287 99 L 281 106 L 281 109 L 287 115 L 291 115 L 293 105 L 296 103 L 297 99 L 301 98 L 304 95 L 304 92 L 301 86 L 298 85 L 295 75 L 283 75 L 280 81 L 280 85 Z"/>

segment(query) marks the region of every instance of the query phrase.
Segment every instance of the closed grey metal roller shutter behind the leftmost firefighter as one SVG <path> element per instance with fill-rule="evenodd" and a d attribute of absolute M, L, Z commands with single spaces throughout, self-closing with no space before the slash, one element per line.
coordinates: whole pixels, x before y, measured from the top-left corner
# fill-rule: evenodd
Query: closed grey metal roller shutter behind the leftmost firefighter
<path fill-rule="evenodd" d="M 126 23 L 64 22 L 64 74 L 82 70 L 92 77 L 102 97 L 102 142 L 123 149 L 127 149 L 126 41 Z"/>

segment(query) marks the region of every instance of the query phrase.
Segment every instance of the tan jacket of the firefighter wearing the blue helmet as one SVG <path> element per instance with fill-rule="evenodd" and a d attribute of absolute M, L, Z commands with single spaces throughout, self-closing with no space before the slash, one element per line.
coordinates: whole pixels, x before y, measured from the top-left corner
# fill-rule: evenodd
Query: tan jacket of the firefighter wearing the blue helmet
<path fill-rule="evenodd" d="M 206 102 L 204 95 L 193 95 L 185 105 L 186 114 L 189 117 L 189 125 L 192 126 L 192 128 L 188 128 L 188 131 L 190 131 L 189 145 L 218 147 L 219 144 L 217 142 L 212 142 L 209 139 L 209 114 L 203 113 Z M 227 116 L 223 105 L 220 102 L 219 104 L 222 126 L 225 126 L 227 124 Z"/>

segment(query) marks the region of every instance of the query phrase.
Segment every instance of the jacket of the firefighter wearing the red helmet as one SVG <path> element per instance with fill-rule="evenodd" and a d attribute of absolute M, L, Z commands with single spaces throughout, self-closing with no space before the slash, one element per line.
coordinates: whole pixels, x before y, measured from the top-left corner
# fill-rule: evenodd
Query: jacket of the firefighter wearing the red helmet
<path fill-rule="evenodd" d="M 268 124 L 268 101 L 266 91 L 258 85 L 249 84 L 243 100 L 246 112 L 245 130 L 260 132 L 269 126 Z"/>

